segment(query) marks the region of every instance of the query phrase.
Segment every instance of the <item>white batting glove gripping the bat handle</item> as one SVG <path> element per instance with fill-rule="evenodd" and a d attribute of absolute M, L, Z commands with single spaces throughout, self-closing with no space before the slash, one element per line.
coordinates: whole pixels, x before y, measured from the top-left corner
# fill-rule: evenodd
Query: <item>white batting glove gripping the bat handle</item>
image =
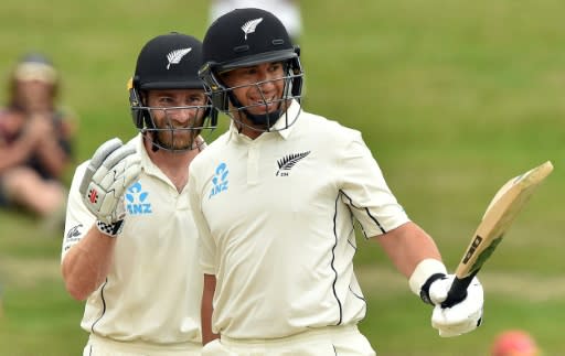
<path fill-rule="evenodd" d="M 441 308 L 441 302 L 447 293 L 455 276 L 448 274 L 438 279 L 429 287 L 429 300 L 434 303 L 431 326 L 439 331 L 439 336 L 451 337 L 469 333 L 481 324 L 482 305 L 484 302 L 482 285 L 475 277 L 467 288 L 467 296 L 450 308 Z"/>

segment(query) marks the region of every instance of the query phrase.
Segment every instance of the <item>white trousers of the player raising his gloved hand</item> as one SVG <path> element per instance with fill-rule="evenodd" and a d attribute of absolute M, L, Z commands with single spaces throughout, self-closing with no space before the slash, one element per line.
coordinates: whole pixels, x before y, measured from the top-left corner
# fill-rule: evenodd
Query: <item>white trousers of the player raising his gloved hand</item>
<path fill-rule="evenodd" d="M 202 345 L 182 343 L 157 345 L 140 342 L 117 342 L 90 334 L 83 356 L 201 356 Z"/>

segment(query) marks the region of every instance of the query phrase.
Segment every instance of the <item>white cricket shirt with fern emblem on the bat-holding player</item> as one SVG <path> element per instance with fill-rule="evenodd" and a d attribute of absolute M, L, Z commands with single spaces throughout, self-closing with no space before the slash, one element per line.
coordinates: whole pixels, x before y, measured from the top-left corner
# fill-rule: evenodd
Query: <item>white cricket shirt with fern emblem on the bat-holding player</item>
<path fill-rule="evenodd" d="M 255 140 L 232 126 L 192 162 L 189 191 L 217 279 L 213 330 L 232 338 L 356 323 L 354 219 L 365 237 L 408 222 L 361 133 L 303 111 Z"/>

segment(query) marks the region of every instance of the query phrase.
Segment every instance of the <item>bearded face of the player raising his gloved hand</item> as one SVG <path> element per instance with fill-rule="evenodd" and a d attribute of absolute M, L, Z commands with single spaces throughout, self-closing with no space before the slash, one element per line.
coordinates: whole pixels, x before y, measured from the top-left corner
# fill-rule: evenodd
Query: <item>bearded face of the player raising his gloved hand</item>
<path fill-rule="evenodd" d="M 158 129 L 159 143 L 172 150 L 192 147 L 193 128 L 202 126 L 206 96 L 201 89 L 149 90 L 147 106 Z"/>

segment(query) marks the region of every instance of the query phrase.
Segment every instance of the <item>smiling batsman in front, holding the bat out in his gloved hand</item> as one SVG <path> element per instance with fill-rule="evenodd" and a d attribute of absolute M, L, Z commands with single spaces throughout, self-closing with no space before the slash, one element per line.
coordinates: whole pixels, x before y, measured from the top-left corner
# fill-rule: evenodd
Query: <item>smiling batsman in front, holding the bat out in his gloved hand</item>
<path fill-rule="evenodd" d="M 440 335 L 478 326 L 481 284 L 440 306 L 452 276 L 361 133 L 302 110 L 299 51 L 275 15 L 221 17 L 205 34 L 203 61 L 212 103 L 232 118 L 189 179 L 202 241 L 203 355 L 375 355 L 356 326 L 366 302 L 352 263 L 355 222 L 435 305 Z"/>

